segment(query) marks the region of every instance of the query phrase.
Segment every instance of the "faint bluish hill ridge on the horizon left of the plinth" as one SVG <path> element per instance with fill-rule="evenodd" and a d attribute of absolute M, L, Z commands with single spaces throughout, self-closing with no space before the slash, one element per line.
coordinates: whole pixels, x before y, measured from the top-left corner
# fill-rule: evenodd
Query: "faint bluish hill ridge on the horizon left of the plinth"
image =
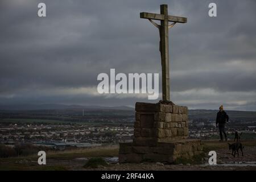
<path fill-rule="evenodd" d="M 0 105 L 0 110 L 60 110 L 60 109 L 85 109 L 85 110 L 134 110 L 128 106 L 82 106 L 82 105 L 64 105 L 64 104 L 40 104 L 40 105 Z"/>

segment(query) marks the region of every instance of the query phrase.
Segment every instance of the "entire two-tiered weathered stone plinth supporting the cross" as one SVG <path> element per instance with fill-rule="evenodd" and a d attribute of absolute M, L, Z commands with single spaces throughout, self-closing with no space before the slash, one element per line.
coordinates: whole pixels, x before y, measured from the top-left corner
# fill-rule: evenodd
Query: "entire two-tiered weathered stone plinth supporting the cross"
<path fill-rule="evenodd" d="M 120 143 L 119 163 L 173 163 L 202 152 L 200 140 L 187 140 L 188 108 L 137 102 L 133 143 Z"/>

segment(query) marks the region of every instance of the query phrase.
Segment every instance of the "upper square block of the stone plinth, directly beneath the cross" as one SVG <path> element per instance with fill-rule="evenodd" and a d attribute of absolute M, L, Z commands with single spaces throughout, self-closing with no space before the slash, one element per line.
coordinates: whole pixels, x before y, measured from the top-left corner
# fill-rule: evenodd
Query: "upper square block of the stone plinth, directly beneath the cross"
<path fill-rule="evenodd" d="M 137 102 L 135 105 L 134 142 L 171 142 L 188 137 L 188 108 Z"/>

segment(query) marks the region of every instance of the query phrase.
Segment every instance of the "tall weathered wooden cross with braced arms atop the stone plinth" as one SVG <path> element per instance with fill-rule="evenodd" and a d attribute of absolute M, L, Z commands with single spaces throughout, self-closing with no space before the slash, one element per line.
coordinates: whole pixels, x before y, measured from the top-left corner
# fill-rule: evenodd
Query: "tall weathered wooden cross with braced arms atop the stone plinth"
<path fill-rule="evenodd" d="M 160 14 L 141 13 L 141 18 L 149 19 L 154 26 L 159 29 L 160 45 L 159 51 L 161 53 L 162 61 L 162 96 L 163 101 L 170 101 L 170 74 L 169 74 L 169 47 L 168 47 L 168 29 L 173 27 L 175 23 L 187 23 L 187 18 L 180 16 L 168 15 L 168 6 L 160 5 Z M 156 24 L 152 21 L 161 20 L 161 24 Z M 174 22 L 168 24 L 168 22 Z"/>

